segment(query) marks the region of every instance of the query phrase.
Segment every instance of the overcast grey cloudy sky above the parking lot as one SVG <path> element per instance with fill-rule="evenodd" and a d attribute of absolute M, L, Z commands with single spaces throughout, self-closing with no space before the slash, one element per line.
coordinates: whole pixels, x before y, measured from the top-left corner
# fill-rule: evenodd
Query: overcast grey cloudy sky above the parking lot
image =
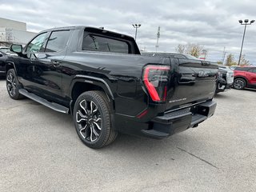
<path fill-rule="evenodd" d="M 208 51 L 207 59 L 222 60 L 234 54 L 238 60 L 244 26 L 239 19 L 256 19 L 253 0 L 0 0 L 0 17 L 26 22 L 27 30 L 39 32 L 57 26 L 104 26 L 106 30 L 134 36 L 133 23 L 140 23 L 137 42 L 154 51 L 158 26 L 159 51 L 175 52 L 178 44 L 195 43 Z M 256 65 L 256 22 L 247 26 L 242 53 Z"/>

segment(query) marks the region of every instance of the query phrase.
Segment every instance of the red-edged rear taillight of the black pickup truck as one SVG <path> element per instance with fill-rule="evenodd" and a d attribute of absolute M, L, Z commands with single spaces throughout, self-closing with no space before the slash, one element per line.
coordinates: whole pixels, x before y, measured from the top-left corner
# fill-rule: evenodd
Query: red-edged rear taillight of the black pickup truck
<path fill-rule="evenodd" d="M 154 102 L 165 102 L 170 66 L 145 66 L 143 82 Z"/>

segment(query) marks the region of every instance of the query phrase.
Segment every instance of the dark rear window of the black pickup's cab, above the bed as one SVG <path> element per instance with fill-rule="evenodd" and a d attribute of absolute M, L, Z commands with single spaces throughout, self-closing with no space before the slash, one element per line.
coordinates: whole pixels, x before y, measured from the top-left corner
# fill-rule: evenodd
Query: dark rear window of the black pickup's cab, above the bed
<path fill-rule="evenodd" d="M 114 38 L 88 34 L 83 38 L 82 50 L 129 54 L 129 44 Z"/>

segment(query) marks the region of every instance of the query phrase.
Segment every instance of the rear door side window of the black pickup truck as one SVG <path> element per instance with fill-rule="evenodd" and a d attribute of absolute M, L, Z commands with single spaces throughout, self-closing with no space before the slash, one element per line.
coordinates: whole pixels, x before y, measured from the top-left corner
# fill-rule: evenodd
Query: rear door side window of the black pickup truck
<path fill-rule="evenodd" d="M 70 38 L 70 30 L 53 31 L 46 44 L 45 52 L 59 52 L 65 50 Z"/>

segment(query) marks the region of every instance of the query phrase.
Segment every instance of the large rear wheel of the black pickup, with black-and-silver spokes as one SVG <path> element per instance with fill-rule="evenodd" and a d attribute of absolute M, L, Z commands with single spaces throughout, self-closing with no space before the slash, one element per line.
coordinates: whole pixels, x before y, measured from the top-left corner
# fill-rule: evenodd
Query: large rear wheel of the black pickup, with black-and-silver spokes
<path fill-rule="evenodd" d="M 74 104 L 74 125 L 86 146 L 98 149 L 114 142 L 118 133 L 111 126 L 110 106 L 101 91 L 87 91 Z"/>

